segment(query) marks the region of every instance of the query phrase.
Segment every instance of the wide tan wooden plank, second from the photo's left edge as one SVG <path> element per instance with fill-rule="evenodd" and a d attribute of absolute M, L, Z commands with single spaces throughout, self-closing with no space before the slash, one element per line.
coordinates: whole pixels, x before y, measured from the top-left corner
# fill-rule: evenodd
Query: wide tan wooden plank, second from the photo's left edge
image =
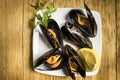
<path fill-rule="evenodd" d="M 23 80 L 22 65 L 22 23 L 23 1 L 7 0 L 7 80 Z"/>

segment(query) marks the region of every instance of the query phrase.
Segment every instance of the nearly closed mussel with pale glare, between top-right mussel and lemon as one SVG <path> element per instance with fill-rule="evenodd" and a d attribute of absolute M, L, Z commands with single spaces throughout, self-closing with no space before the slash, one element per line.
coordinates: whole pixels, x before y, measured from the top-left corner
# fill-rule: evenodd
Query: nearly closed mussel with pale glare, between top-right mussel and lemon
<path fill-rule="evenodd" d="M 78 27 L 74 26 L 70 22 L 66 22 L 65 26 L 61 28 L 63 35 L 71 40 L 79 47 L 89 47 L 92 48 L 92 42 L 86 36 L 84 36 L 83 32 L 78 29 Z"/>

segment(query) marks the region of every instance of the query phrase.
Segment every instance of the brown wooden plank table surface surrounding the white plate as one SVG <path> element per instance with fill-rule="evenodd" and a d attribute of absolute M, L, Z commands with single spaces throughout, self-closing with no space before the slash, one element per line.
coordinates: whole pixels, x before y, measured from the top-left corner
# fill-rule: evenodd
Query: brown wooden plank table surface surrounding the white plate
<path fill-rule="evenodd" d="M 44 0 L 41 0 L 44 1 Z M 83 8 L 84 0 L 48 0 L 57 8 Z M 32 68 L 33 17 L 36 0 L 0 0 L 0 80 L 71 80 L 39 74 Z M 96 76 L 77 80 L 120 80 L 120 0 L 86 0 L 102 19 L 102 60 Z"/>

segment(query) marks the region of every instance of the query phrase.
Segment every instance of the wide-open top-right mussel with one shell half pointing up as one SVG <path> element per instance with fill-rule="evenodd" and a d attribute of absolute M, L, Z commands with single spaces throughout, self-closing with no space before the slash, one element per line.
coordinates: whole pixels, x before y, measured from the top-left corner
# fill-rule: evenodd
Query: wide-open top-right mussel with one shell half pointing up
<path fill-rule="evenodd" d="M 78 27 L 87 37 L 95 37 L 97 33 L 97 24 L 88 6 L 84 3 L 87 16 L 83 10 L 72 9 L 68 16 L 70 21 Z"/>

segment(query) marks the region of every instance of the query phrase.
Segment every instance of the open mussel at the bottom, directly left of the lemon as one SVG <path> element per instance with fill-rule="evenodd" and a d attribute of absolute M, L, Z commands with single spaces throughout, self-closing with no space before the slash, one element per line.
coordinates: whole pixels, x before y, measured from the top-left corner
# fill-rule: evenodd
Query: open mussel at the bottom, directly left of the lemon
<path fill-rule="evenodd" d="M 68 63 L 65 67 L 69 75 L 73 80 L 75 80 L 75 73 L 79 73 L 82 77 L 86 77 L 83 60 L 71 46 L 65 45 L 65 49 L 66 54 L 69 56 Z"/>

